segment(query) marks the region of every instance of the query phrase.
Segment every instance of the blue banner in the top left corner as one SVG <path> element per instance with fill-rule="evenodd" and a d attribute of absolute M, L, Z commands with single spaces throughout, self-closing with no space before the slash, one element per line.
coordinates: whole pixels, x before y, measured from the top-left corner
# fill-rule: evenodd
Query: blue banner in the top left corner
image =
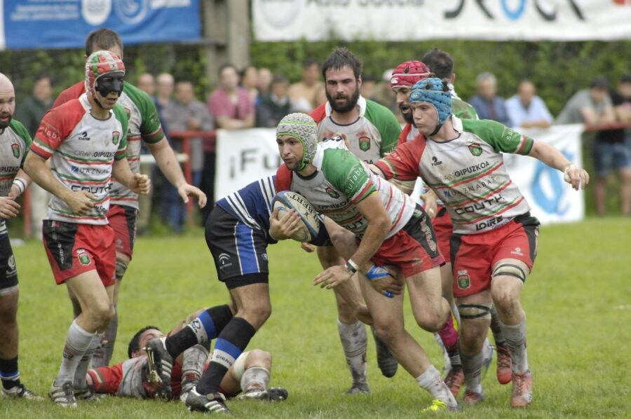
<path fill-rule="evenodd" d="M 4 49 L 83 48 L 90 31 L 113 29 L 125 45 L 198 41 L 198 0 L 4 0 Z"/>

